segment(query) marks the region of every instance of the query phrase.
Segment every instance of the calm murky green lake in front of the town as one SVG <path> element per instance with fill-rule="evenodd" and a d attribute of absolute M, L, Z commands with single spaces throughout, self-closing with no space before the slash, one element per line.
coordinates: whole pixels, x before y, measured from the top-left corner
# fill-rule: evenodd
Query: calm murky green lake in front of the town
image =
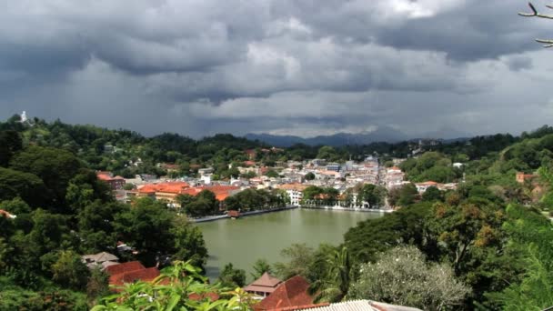
<path fill-rule="evenodd" d="M 200 223 L 209 259 L 206 273 L 219 276 L 227 263 L 246 270 L 247 280 L 254 262 L 265 258 L 271 264 L 282 261 L 280 251 L 294 243 L 318 246 L 339 245 L 357 222 L 383 216 L 379 213 L 296 208 L 287 211 Z"/>

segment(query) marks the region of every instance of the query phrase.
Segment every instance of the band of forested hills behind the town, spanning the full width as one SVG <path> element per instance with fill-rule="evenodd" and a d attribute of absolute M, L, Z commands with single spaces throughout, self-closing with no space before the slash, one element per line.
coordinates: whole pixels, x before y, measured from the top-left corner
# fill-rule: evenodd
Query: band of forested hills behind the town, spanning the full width
<path fill-rule="evenodd" d="M 136 132 L 118 129 L 110 130 L 95 125 L 68 125 L 59 120 L 45 122 L 35 118 L 33 124 L 21 124 L 19 115 L 6 122 L 0 122 L 0 130 L 15 130 L 23 137 L 24 145 L 50 146 L 65 149 L 78 156 L 89 168 L 111 171 L 116 175 L 132 177 L 136 174 L 163 175 L 159 163 L 177 164 L 179 176 L 194 173 L 197 167 L 213 166 L 216 176 L 226 178 L 234 171 L 228 165 L 253 159 L 265 166 L 275 166 L 279 161 L 324 157 L 330 161 L 363 159 L 367 155 L 378 155 L 384 161 L 391 157 L 413 156 L 425 151 L 437 151 L 447 155 L 453 162 L 494 157 L 509 145 L 522 139 L 538 138 L 553 133 L 553 128 L 543 126 L 531 133 L 516 137 L 508 134 L 476 136 L 462 141 L 440 142 L 419 145 L 418 141 L 400 143 L 371 143 L 368 145 L 344 145 L 327 147 L 321 145 L 291 145 L 277 152 L 263 153 L 272 145 L 257 140 L 248 140 L 229 134 L 219 134 L 195 140 L 183 135 L 162 134 L 145 137 Z M 256 151 L 250 158 L 246 150 Z M 136 164 L 140 166 L 136 166 Z"/>

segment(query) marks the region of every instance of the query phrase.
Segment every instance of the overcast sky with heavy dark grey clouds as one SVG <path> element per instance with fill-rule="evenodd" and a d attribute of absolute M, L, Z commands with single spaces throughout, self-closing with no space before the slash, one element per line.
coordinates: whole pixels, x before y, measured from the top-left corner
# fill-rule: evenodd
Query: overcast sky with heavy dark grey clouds
<path fill-rule="evenodd" d="M 533 42 L 553 21 L 519 11 L 526 1 L 0 0 L 0 118 L 193 137 L 519 134 L 553 124 L 553 49 Z"/>

